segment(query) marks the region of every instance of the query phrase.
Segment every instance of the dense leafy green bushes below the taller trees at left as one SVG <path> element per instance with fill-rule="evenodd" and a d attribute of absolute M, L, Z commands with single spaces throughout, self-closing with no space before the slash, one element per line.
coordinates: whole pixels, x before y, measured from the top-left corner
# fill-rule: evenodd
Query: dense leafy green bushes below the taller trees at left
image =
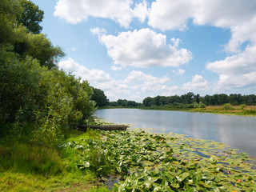
<path fill-rule="evenodd" d="M 94 114 L 88 82 L 30 57 L 19 61 L 8 50 L 0 49 L 0 56 L 0 120 L 14 123 L 15 137 L 32 122 L 36 140 L 56 142 Z"/>

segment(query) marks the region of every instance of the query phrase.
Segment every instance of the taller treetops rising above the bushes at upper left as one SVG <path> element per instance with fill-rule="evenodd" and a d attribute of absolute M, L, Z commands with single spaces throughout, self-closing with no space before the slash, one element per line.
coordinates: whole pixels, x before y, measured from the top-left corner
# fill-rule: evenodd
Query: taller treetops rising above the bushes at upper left
<path fill-rule="evenodd" d="M 52 68 L 65 55 L 46 35 L 38 34 L 42 29 L 38 23 L 42 21 L 43 12 L 33 2 L 2 0 L 0 18 L 0 46 L 9 46 L 9 51 L 18 54 L 21 60 L 31 56 L 42 66 Z"/>

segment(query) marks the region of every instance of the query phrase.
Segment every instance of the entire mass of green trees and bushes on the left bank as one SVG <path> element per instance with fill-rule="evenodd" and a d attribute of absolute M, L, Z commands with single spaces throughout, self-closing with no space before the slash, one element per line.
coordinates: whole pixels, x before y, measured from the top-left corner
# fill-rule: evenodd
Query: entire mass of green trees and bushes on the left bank
<path fill-rule="evenodd" d="M 0 137 L 7 135 L 2 129 L 7 124 L 9 134 L 20 138 L 32 123 L 34 141 L 56 143 L 94 114 L 92 90 L 56 67 L 64 53 L 38 34 L 43 18 L 38 6 L 3 0 L 0 10 Z"/>

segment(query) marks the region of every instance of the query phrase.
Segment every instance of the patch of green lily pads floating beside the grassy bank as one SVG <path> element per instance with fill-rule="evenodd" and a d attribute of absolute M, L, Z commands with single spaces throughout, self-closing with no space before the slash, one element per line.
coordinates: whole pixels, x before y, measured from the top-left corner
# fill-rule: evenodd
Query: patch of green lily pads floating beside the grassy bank
<path fill-rule="evenodd" d="M 255 159 L 222 143 L 180 134 L 97 132 L 99 139 L 60 147 L 77 150 L 81 170 L 117 174 L 114 191 L 256 191 Z"/>

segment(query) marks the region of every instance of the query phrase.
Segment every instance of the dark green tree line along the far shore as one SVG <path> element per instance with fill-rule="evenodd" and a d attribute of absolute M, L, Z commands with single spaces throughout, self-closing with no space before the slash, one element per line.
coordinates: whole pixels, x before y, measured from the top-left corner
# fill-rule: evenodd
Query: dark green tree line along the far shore
<path fill-rule="evenodd" d="M 116 102 L 110 102 L 103 90 L 93 88 L 94 94 L 92 100 L 96 102 L 97 106 L 124 106 L 124 107 L 138 107 L 138 106 L 170 106 L 174 108 L 203 108 L 205 106 L 222 106 L 226 103 L 230 103 L 232 106 L 237 105 L 256 105 L 256 95 L 242 95 L 242 94 L 214 94 L 206 96 L 200 96 L 200 94 L 194 94 L 189 92 L 182 94 L 181 96 L 156 96 L 154 98 L 144 98 L 142 103 L 129 101 L 126 99 L 118 99 Z"/>

